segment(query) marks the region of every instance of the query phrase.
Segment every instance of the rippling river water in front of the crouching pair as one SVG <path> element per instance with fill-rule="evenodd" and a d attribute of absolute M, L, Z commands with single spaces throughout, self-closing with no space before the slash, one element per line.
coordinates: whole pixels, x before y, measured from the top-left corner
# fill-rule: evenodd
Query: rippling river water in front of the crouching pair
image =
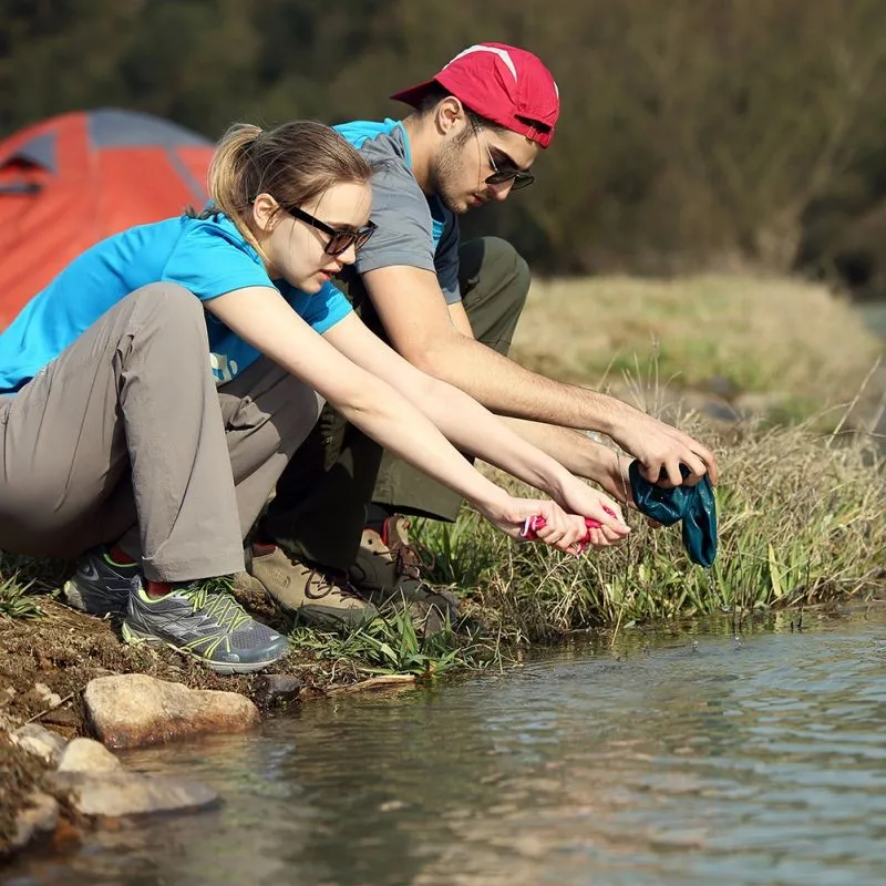
<path fill-rule="evenodd" d="M 886 619 L 791 618 L 575 642 L 128 753 L 222 805 L 3 883 L 886 883 Z"/>

